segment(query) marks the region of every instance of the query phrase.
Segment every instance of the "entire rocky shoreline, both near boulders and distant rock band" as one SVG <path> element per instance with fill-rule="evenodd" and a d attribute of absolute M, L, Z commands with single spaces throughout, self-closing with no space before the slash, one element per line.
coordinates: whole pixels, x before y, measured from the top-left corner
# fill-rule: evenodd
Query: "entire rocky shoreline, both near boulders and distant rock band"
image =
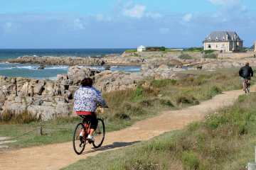
<path fill-rule="evenodd" d="M 6 61 L 4 61 L 6 62 Z M 23 77 L 0 76 L 0 114 L 5 111 L 15 111 L 16 114 L 28 111 L 37 118 L 49 120 L 57 117 L 75 115 L 73 111 L 73 94 L 80 87 L 80 81 L 85 77 L 95 80 L 95 88 L 104 92 L 134 89 L 138 81 L 147 79 L 176 79 L 176 73 L 189 69 L 218 69 L 242 67 L 245 62 L 256 67 L 255 58 L 242 60 L 204 59 L 181 60 L 164 57 L 122 57 L 107 55 L 101 57 L 35 57 L 23 56 L 9 59 L 7 62 L 70 65 L 67 74 L 58 74 L 54 81 L 49 79 L 27 79 Z M 99 71 L 78 66 L 141 66 L 141 72 Z M 169 66 L 176 65 L 174 68 Z M 42 67 L 42 66 L 41 66 Z"/>

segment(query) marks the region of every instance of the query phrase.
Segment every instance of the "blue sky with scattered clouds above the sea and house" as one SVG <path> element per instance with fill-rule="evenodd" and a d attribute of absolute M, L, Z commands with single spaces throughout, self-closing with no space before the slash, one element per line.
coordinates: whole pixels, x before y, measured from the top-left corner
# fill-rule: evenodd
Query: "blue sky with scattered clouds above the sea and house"
<path fill-rule="evenodd" d="M 256 41 L 255 0 L 1 0 L 0 49 L 201 47 L 212 31 Z"/>

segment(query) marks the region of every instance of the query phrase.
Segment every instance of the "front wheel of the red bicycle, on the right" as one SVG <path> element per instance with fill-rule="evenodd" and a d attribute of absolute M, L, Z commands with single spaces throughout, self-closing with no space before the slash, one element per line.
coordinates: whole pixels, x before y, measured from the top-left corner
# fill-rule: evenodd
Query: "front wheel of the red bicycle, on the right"
<path fill-rule="evenodd" d="M 101 118 L 97 118 L 98 125 L 97 129 L 93 134 L 93 139 L 95 142 L 92 143 L 93 147 L 98 148 L 102 145 L 104 137 L 105 137 L 105 125 Z"/>

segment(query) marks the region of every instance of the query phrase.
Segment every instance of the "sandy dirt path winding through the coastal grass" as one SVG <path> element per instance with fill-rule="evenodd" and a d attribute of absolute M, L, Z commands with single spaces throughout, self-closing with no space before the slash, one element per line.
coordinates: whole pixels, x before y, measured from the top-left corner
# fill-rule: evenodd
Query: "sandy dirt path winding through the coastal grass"
<path fill-rule="evenodd" d="M 256 85 L 252 86 L 251 91 L 255 91 L 255 88 Z M 75 154 L 72 142 L 7 150 L 0 155 L 0 169 L 61 169 L 88 156 L 129 146 L 142 140 L 149 140 L 166 131 L 181 129 L 184 125 L 203 118 L 209 110 L 214 111 L 215 108 L 232 104 L 240 94 L 244 94 L 244 91 L 224 92 L 197 106 L 180 111 L 166 111 L 154 118 L 135 123 L 132 127 L 124 130 L 108 132 L 102 147 L 94 149 L 92 145 L 87 145 L 81 155 Z M 152 125 L 154 125 L 154 129 L 150 128 Z"/>

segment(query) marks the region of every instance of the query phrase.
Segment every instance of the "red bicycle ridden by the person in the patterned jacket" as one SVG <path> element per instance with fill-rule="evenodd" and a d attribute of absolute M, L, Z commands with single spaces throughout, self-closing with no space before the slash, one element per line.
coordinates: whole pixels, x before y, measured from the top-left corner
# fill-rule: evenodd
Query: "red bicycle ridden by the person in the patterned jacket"
<path fill-rule="evenodd" d="M 82 118 L 85 118 L 86 116 L 90 115 L 79 115 Z M 97 118 L 97 128 L 94 132 L 93 138 L 95 142 L 89 142 L 87 140 L 87 136 L 90 134 L 90 125 L 91 123 L 78 123 L 78 125 L 75 126 L 74 134 L 73 134 L 73 148 L 75 150 L 76 154 L 82 154 L 82 152 L 85 149 L 85 145 L 87 143 L 93 145 L 93 147 L 98 148 L 102 145 L 103 140 L 105 138 L 105 125 L 101 118 Z M 84 130 L 84 133 L 82 136 L 80 136 L 80 132 L 82 132 L 82 129 Z"/>

